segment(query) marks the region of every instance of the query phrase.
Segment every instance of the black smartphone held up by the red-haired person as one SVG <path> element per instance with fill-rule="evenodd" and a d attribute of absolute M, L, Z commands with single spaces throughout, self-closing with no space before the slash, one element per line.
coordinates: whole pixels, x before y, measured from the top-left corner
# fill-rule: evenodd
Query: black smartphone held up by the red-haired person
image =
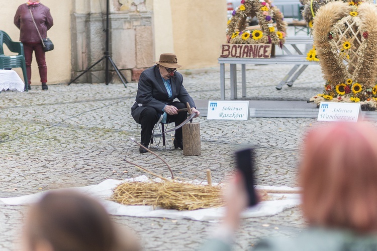
<path fill-rule="evenodd" d="M 235 153 L 235 157 L 236 168 L 242 174 L 242 177 L 245 182 L 247 194 L 249 197 L 249 206 L 253 206 L 258 202 L 254 189 L 254 149 L 248 148 L 237 151 Z"/>

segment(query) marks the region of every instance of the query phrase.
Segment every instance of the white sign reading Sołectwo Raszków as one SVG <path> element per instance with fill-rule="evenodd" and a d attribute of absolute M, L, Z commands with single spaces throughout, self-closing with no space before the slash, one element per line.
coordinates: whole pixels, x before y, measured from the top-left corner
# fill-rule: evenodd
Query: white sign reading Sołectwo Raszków
<path fill-rule="evenodd" d="M 247 120 L 249 101 L 208 101 L 207 119 Z"/>

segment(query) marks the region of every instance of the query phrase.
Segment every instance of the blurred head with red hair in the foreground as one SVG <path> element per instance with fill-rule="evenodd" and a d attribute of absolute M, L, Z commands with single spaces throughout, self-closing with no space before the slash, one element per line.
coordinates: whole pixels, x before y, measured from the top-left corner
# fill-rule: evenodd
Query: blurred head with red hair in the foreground
<path fill-rule="evenodd" d="M 310 132 L 300 185 L 311 225 L 377 230 L 377 130 L 367 123 L 336 122 Z"/>

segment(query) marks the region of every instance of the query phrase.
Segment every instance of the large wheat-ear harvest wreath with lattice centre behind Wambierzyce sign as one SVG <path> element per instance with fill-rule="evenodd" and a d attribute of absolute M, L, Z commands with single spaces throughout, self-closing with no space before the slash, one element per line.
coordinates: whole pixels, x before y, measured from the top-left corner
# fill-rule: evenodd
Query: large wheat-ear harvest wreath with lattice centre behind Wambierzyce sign
<path fill-rule="evenodd" d="M 321 101 L 360 102 L 377 108 L 377 10 L 362 2 L 336 1 L 316 14 L 314 45 L 326 80 Z"/>

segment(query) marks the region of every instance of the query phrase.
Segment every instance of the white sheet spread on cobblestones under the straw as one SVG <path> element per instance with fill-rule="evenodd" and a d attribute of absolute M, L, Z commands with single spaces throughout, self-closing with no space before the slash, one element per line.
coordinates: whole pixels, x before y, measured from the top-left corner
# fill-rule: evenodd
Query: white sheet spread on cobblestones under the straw
<path fill-rule="evenodd" d="M 220 208 L 206 208 L 192 211 L 178 211 L 170 209 L 153 208 L 152 206 L 126 206 L 108 200 L 112 194 L 113 189 L 123 182 L 130 181 L 148 181 L 148 177 L 139 176 L 134 179 L 128 180 L 113 180 L 107 179 L 98 185 L 91 185 L 85 187 L 73 187 L 64 189 L 73 189 L 92 197 L 99 199 L 99 201 L 105 206 L 107 211 L 113 215 L 124 215 L 134 217 L 159 217 L 170 219 L 193 219 L 200 221 L 216 221 L 220 220 L 224 215 L 224 207 Z M 203 182 L 204 183 L 204 182 Z M 274 186 L 258 186 L 265 189 L 277 189 L 277 190 L 297 190 L 298 188 L 292 187 L 274 187 Z M 0 198 L 0 204 L 2 205 L 26 205 L 38 201 L 44 193 L 48 191 L 39 192 L 36 194 L 24 195 L 20 197 Z M 261 217 L 274 215 L 287 208 L 292 208 L 300 204 L 299 194 L 269 194 L 276 197 L 276 200 L 263 201 L 258 205 L 245 210 L 241 217 Z"/>

